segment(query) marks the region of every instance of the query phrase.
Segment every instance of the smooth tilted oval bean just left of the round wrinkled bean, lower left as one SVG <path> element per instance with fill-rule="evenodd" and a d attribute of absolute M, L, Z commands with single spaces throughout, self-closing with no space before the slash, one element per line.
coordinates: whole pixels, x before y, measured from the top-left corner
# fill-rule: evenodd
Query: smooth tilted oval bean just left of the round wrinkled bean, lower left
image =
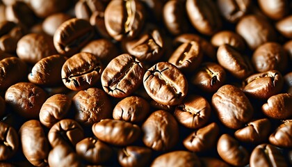
<path fill-rule="evenodd" d="M 67 95 L 56 94 L 49 97 L 40 109 L 40 122 L 51 128 L 56 122 L 63 120 L 70 110 L 72 100 Z"/>

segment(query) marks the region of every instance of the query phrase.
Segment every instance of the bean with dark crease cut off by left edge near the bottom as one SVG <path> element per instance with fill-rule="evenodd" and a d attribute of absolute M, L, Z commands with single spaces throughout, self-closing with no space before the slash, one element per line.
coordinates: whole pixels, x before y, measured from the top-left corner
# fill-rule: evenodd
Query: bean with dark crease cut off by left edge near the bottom
<path fill-rule="evenodd" d="M 13 157 L 18 149 L 18 145 L 19 138 L 14 127 L 0 122 L 0 161 L 6 161 Z"/>

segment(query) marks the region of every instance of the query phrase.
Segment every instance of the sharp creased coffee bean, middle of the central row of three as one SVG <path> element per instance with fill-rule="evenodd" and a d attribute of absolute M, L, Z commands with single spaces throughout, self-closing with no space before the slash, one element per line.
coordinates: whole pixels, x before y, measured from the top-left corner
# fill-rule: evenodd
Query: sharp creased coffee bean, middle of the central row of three
<path fill-rule="evenodd" d="M 142 84 L 143 64 L 130 54 L 121 54 L 102 72 L 102 88 L 113 97 L 127 97 Z"/>

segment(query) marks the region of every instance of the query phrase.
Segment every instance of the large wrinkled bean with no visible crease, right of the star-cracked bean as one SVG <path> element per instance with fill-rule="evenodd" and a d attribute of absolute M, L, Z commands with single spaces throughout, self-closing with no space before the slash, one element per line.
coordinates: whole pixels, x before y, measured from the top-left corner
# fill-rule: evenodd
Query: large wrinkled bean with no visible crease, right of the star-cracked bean
<path fill-rule="evenodd" d="M 253 116 L 252 104 L 245 94 L 235 86 L 225 85 L 212 97 L 212 105 L 219 120 L 231 129 L 239 129 Z"/>

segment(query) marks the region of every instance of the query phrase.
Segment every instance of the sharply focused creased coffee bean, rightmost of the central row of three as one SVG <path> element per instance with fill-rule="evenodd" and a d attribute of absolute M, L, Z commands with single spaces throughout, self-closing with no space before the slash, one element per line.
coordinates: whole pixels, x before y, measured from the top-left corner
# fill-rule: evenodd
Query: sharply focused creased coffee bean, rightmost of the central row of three
<path fill-rule="evenodd" d="M 153 100 L 165 105 L 177 105 L 188 93 L 188 82 L 181 71 L 167 62 L 156 63 L 145 72 L 144 88 Z"/>

